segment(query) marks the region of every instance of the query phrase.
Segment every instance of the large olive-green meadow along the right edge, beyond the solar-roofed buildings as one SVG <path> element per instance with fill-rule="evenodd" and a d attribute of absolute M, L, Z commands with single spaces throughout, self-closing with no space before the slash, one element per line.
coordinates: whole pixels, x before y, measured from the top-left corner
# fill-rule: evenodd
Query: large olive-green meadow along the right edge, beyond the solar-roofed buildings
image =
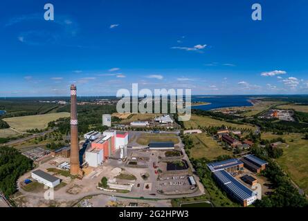
<path fill-rule="evenodd" d="M 303 140 L 304 135 L 298 133 L 290 133 L 289 135 L 262 134 L 262 139 L 266 140 L 277 137 L 282 137 L 289 144 L 289 147 L 283 148 L 284 153 L 277 160 L 278 164 L 308 194 L 308 140 Z"/>

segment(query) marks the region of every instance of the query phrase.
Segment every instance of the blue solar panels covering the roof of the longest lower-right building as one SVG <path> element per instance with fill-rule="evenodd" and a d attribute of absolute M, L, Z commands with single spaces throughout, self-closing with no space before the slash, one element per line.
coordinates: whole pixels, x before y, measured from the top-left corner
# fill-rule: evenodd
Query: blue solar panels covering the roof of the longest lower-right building
<path fill-rule="evenodd" d="M 237 196 L 241 200 L 246 200 L 256 195 L 251 189 L 248 189 L 246 186 L 235 180 L 233 176 L 227 173 L 224 170 L 213 172 L 215 177 L 226 186 L 226 188 Z"/>

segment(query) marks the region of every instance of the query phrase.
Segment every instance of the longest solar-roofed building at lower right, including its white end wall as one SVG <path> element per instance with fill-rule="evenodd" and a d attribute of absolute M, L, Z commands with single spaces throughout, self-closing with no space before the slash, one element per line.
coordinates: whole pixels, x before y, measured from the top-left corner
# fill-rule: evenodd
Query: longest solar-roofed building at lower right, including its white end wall
<path fill-rule="evenodd" d="M 212 175 L 221 189 L 224 189 L 231 198 L 237 200 L 243 206 L 249 206 L 257 200 L 257 193 L 248 189 L 228 172 L 224 170 L 213 171 Z"/>

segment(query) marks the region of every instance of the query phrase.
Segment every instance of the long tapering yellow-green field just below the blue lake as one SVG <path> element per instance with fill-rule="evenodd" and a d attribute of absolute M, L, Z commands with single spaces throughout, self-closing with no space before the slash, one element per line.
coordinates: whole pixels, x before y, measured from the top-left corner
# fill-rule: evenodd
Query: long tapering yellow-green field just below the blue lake
<path fill-rule="evenodd" d="M 211 117 L 208 116 L 198 116 L 198 115 L 192 115 L 189 121 L 184 122 L 184 126 L 187 129 L 192 128 L 198 128 L 198 126 L 221 126 L 225 125 L 228 127 L 233 127 L 233 128 L 245 128 L 245 129 L 251 129 L 255 131 L 255 126 L 247 125 L 247 124 L 233 124 L 233 123 L 228 123 L 224 122 L 218 119 L 212 119 Z"/>

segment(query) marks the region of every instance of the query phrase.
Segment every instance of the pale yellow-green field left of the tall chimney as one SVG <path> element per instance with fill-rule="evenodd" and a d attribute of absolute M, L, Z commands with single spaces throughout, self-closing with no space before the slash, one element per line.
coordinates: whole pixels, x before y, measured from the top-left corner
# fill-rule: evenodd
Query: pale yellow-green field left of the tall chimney
<path fill-rule="evenodd" d="M 30 115 L 24 117 L 10 117 L 3 120 L 8 122 L 10 127 L 15 128 L 17 131 L 26 132 L 30 129 L 44 129 L 47 127 L 48 122 L 59 119 L 60 117 L 69 117 L 70 113 L 48 113 L 46 115 Z"/>

